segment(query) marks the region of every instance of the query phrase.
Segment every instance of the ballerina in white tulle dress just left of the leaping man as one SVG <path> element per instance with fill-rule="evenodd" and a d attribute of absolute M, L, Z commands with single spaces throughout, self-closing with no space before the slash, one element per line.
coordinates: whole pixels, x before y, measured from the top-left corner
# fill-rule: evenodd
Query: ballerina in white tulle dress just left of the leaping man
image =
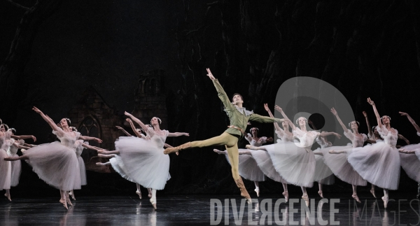
<path fill-rule="evenodd" d="M 162 153 L 165 140 L 168 136 L 189 136 L 189 134 L 170 133 L 167 130 L 161 130 L 159 125 L 162 121 L 160 118 L 153 117 L 151 120 L 153 128 L 150 128 L 130 113 L 125 112 L 125 115 L 139 124 L 151 139 L 121 136 L 116 141 L 116 150 L 118 150 L 119 156 L 111 158 L 109 162 L 123 178 L 139 183 L 145 188 L 151 188 L 150 202 L 156 209 L 156 190 L 165 188 L 167 180 L 171 178 L 169 175 L 169 156 Z M 103 153 L 116 154 L 110 151 L 103 151 Z"/>

